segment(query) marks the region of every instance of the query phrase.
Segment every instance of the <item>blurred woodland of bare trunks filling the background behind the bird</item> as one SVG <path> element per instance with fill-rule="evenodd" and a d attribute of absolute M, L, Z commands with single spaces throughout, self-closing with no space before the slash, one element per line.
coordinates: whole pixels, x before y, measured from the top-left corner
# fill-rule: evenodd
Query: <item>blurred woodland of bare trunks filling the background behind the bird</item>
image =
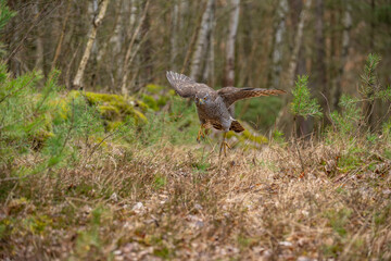
<path fill-rule="evenodd" d="M 55 67 L 67 89 L 135 95 L 150 83 L 167 85 L 165 72 L 175 70 L 215 88 L 290 91 L 297 75 L 307 74 L 312 95 L 323 111 L 331 112 L 339 110 L 341 94 L 358 95 L 358 75 L 369 52 L 382 58 L 378 82 L 386 87 L 391 80 L 390 0 L 9 0 L 8 4 L 17 12 L 0 40 L 11 73 L 39 70 L 49 77 Z M 263 130 L 276 121 L 287 127 L 283 115 L 290 100 L 287 96 L 243 101 L 236 114 Z M 377 119 L 389 113 L 386 102 L 368 99 L 364 107 L 374 128 Z M 312 119 L 299 123 L 302 135 L 313 129 Z"/>

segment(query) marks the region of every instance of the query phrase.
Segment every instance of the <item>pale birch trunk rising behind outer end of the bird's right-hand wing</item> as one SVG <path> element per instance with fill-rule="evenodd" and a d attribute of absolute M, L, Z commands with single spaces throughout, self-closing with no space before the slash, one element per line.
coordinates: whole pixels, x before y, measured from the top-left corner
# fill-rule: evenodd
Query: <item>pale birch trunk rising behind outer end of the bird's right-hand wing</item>
<path fill-rule="evenodd" d="M 282 38 L 286 35 L 287 25 L 286 17 L 288 15 L 288 0 L 280 0 L 277 9 L 277 25 L 274 36 L 272 70 L 269 74 L 269 85 L 273 88 L 279 88 L 279 78 L 282 71 Z"/>

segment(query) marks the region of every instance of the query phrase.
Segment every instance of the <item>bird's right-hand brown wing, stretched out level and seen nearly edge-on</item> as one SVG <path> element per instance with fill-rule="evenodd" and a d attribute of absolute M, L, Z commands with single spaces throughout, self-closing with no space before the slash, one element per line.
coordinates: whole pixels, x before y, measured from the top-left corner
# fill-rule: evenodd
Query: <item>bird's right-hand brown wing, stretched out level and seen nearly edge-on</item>
<path fill-rule="evenodd" d="M 260 96 L 276 96 L 282 95 L 287 91 L 280 89 L 261 89 L 261 88 L 236 88 L 225 87 L 217 90 L 217 94 L 223 98 L 224 103 L 229 108 L 238 100 L 260 97 Z"/>

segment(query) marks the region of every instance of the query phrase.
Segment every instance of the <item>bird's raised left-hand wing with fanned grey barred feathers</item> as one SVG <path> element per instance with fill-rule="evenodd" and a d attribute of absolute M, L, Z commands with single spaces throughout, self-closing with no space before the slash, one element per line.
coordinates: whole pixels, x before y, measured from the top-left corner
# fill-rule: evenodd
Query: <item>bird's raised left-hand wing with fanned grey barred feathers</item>
<path fill-rule="evenodd" d="M 168 71 L 166 73 L 169 84 L 173 86 L 175 91 L 184 98 L 193 98 L 200 90 L 214 91 L 211 87 L 204 84 L 198 84 L 192 78 Z"/>

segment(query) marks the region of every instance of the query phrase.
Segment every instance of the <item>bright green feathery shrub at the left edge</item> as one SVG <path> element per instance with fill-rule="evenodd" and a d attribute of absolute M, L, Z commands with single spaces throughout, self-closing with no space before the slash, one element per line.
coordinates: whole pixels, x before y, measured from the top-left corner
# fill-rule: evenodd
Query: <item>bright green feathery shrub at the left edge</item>
<path fill-rule="evenodd" d="M 16 154 L 39 149 L 45 139 L 52 136 L 51 101 L 59 91 L 58 75 L 59 72 L 53 72 L 37 95 L 40 73 L 12 78 L 7 66 L 0 64 L 0 164 Z"/>

